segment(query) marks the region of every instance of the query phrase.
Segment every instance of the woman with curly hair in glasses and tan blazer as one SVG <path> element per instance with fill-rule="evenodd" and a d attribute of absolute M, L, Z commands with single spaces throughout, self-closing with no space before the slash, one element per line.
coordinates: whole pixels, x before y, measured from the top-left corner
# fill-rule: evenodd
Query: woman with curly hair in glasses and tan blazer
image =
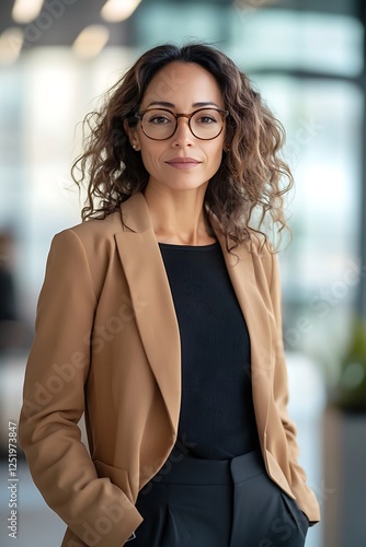
<path fill-rule="evenodd" d="M 88 222 L 53 241 L 20 422 L 62 546 L 302 546 L 319 508 L 261 230 L 285 226 L 279 124 L 199 44 L 147 51 L 87 121 Z"/>

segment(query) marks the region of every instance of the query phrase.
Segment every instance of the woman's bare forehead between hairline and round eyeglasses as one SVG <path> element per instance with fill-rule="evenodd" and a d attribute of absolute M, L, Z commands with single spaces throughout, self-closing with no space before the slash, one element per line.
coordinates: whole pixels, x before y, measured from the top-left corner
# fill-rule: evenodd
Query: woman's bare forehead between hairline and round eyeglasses
<path fill-rule="evenodd" d="M 170 62 L 148 84 L 142 105 L 169 102 L 176 106 L 211 102 L 224 106 L 222 95 L 215 77 L 195 62 Z"/>

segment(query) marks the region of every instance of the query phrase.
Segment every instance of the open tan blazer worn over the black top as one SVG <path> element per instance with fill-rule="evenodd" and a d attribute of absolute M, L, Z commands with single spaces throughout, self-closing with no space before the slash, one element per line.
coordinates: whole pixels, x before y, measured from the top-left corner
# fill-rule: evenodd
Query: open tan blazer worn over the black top
<path fill-rule="evenodd" d="M 68 524 L 64 547 L 124 545 L 142 522 L 138 491 L 176 439 L 181 354 L 169 281 L 144 196 L 122 212 L 128 229 L 118 211 L 55 236 L 26 368 L 20 440 L 36 486 Z M 217 236 L 250 333 L 267 473 L 318 521 L 286 411 L 276 257 L 248 244 L 238 259 Z"/>

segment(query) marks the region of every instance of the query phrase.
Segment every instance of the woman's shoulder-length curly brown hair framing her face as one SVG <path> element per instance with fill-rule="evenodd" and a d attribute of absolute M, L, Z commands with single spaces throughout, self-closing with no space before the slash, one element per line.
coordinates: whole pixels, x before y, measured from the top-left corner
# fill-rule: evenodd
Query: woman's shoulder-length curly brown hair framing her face
<path fill-rule="evenodd" d="M 210 72 L 229 110 L 226 151 L 207 186 L 206 211 L 219 220 L 228 249 L 251 238 L 253 231 L 267 242 L 262 231 L 266 221 L 278 233 L 288 228 L 283 205 L 284 194 L 293 186 L 293 176 L 279 158 L 284 128 L 229 57 L 197 43 L 182 47 L 165 44 L 148 50 L 106 93 L 104 106 L 85 116 L 84 130 L 90 133 L 84 138 L 83 154 L 71 168 L 79 188 L 89 181 L 82 220 L 103 219 L 131 195 L 144 193 L 149 174 L 141 155 L 130 146 L 125 123 L 129 126 L 138 123 L 134 115 L 149 82 L 173 61 L 194 62 Z"/>

